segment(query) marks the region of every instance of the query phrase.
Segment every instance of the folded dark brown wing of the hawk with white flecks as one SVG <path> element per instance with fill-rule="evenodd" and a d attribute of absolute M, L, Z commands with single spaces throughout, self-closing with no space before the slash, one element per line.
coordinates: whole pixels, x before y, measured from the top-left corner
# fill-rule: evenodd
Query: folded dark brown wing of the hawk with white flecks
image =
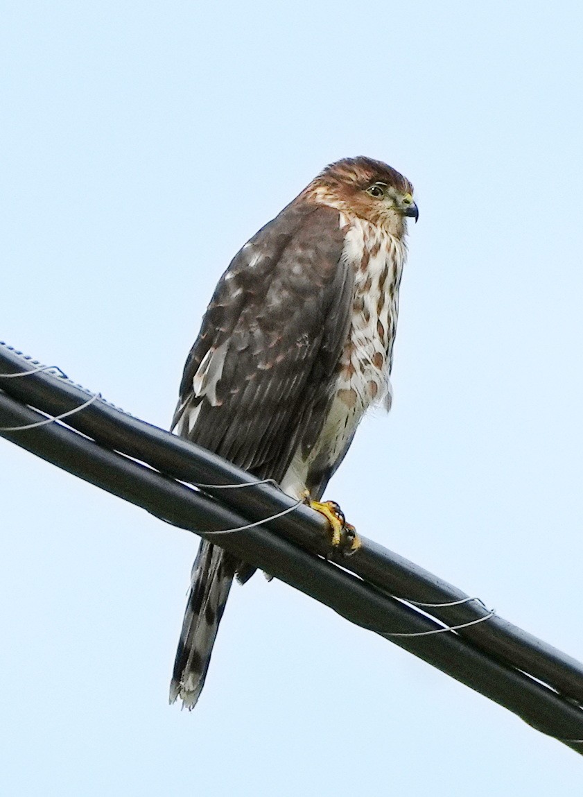
<path fill-rule="evenodd" d="M 258 478 L 281 481 L 332 398 L 354 285 L 338 221 L 292 202 L 264 226 L 221 277 L 186 361 L 173 428 Z"/>

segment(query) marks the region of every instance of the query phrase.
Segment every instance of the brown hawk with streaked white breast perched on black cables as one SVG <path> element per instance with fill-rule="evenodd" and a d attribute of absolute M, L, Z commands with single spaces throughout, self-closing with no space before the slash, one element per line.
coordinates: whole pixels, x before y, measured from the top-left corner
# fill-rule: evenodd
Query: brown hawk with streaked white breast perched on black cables
<path fill-rule="evenodd" d="M 418 218 L 413 186 L 393 168 L 364 157 L 326 167 L 221 277 L 174 432 L 325 511 L 319 499 L 363 414 L 390 407 L 407 218 Z M 233 578 L 253 571 L 202 541 L 171 702 L 198 701 Z"/>

